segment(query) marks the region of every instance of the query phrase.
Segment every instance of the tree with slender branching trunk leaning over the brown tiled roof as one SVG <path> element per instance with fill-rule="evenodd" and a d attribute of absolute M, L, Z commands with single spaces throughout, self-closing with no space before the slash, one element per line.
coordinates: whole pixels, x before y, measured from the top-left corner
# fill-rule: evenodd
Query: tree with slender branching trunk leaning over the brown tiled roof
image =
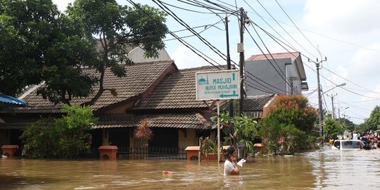
<path fill-rule="evenodd" d="M 138 6 L 120 6 L 115 0 L 76 0 L 68 6 L 68 18 L 80 23 L 81 28 L 99 43 L 99 61 L 91 65 L 99 72 L 99 89 L 87 105 L 94 104 L 103 91 L 115 93 L 103 86 L 104 73 L 109 68 L 118 77 L 126 75 L 120 63 L 133 64 L 127 57 L 127 47 L 140 46 L 146 57 L 158 57 L 158 49 L 165 47 L 165 12 L 146 5 Z"/>

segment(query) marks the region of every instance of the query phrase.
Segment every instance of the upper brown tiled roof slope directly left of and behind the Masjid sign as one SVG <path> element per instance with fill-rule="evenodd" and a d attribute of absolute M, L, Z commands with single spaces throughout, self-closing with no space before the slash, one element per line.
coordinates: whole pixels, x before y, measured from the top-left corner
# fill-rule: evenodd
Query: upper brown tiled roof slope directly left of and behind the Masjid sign
<path fill-rule="evenodd" d="M 132 110 L 208 108 L 196 101 L 196 72 L 215 71 L 214 66 L 179 70 L 168 75 L 156 89 Z M 210 105 L 213 101 L 207 101 Z"/>

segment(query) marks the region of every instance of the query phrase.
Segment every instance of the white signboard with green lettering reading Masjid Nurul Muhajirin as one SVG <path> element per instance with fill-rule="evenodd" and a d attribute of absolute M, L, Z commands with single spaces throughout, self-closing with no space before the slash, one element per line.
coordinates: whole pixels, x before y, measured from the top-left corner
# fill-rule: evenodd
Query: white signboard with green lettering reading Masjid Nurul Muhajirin
<path fill-rule="evenodd" d="M 196 72 L 197 101 L 239 98 L 239 70 Z"/>

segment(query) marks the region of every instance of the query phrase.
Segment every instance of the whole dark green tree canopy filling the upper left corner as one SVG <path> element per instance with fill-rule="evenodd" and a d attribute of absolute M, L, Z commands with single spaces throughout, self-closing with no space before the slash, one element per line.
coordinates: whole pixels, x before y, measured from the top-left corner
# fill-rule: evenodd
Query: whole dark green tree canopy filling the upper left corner
<path fill-rule="evenodd" d="M 103 86 L 106 70 L 126 75 L 120 63 L 132 64 L 130 49 L 157 57 L 165 47 L 165 13 L 139 6 L 144 11 L 114 0 L 76 0 L 60 13 L 51 0 L 0 0 L 0 93 L 15 96 L 44 82 L 37 94 L 53 103 L 94 93 L 85 103 L 94 104 L 112 91 Z"/>

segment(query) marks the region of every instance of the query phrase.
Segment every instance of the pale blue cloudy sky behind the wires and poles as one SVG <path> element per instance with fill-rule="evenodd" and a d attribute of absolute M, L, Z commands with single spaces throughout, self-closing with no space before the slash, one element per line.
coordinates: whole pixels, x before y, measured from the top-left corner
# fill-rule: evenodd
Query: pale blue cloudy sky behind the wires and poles
<path fill-rule="evenodd" d="M 175 15 L 184 20 L 184 23 L 193 27 L 224 54 L 227 51 L 227 43 L 225 25 L 221 21 L 228 16 L 230 54 L 232 61 L 239 63 L 239 53 L 236 51 L 237 43 L 240 42 L 239 25 L 235 15 L 228 15 L 222 11 L 211 13 L 205 8 L 197 8 L 181 1 L 161 1 L 166 3 L 165 6 L 170 8 Z M 53 2 L 57 4 L 60 11 L 64 11 L 67 4 L 72 1 L 53 0 Z M 135 2 L 159 8 L 151 0 L 135 0 Z M 213 0 L 213 2 L 233 10 L 243 8 L 247 11 L 251 24 L 246 25 L 247 30 L 243 34 L 245 58 L 260 54 L 262 51 L 264 53 L 300 51 L 303 55 L 302 60 L 309 86 L 309 91 L 304 91 L 303 94 L 308 97 L 313 107 L 318 107 L 317 72 L 314 63 L 317 62 L 317 58 L 322 65 L 319 70 L 322 105 L 324 109 L 331 111 L 332 96 L 336 118 L 340 116 L 348 118 L 355 124 L 360 124 L 365 122 L 374 107 L 380 104 L 379 1 Z M 118 0 L 118 3 L 132 6 L 127 0 Z M 178 37 L 192 35 L 188 30 L 177 32 L 184 30 L 185 27 L 170 15 L 167 16 L 166 24 L 169 30 Z M 277 40 L 270 38 L 263 30 L 272 34 Z M 226 64 L 223 58 L 220 58 L 198 37 L 183 39 L 191 44 L 193 49 L 204 53 L 207 56 L 206 59 L 215 61 L 211 63 Z M 170 34 L 167 34 L 165 44 L 167 53 L 179 69 L 211 65 Z M 326 61 L 324 61 L 325 58 Z M 343 83 L 346 85 L 336 87 Z"/>

